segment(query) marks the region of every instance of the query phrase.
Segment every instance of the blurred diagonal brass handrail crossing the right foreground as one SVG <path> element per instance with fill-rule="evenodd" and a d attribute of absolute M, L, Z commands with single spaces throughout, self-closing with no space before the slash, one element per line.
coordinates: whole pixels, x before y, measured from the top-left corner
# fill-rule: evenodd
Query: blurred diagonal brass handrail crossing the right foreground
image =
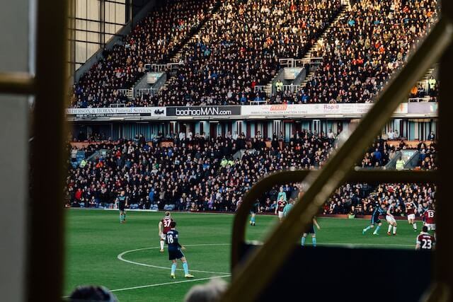
<path fill-rule="evenodd" d="M 445 7 L 442 6 L 443 8 Z M 287 219 L 275 228 L 264 245 L 251 252 L 251 255 L 242 265 L 236 265 L 233 268 L 233 278 L 226 293 L 222 296 L 222 301 L 255 301 L 258 298 L 260 292 L 269 284 L 277 269 L 282 266 L 289 253 L 292 252 L 294 242 L 300 236 L 299 230 L 309 225 L 312 217 L 319 211 L 333 190 L 341 182 L 345 182 L 345 180 L 350 178 L 352 166 L 360 159 L 363 151 L 372 143 L 374 137 L 379 134 L 379 131 L 381 131 L 387 120 L 389 120 L 398 104 L 407 98 L 407 93 L 410 91 L 413 83 L 416 83 L 432 64 L 438 62 L 445 50 L 451 45 L 452 40 L 453 25 L 446 18 L 442 18 L 432 28 L 426 39 L 418 46 L 418 50 L 408 59 L 406 66 L 398 71 L 398 74 L 391 79 L 389 86 L 379 94 L 377 102 L 360 121 L 357 129 L 355 129 L 355 132 L 352 132 L 348 140 L 345 141 L 345 144 L 338 149 L 336 154 L 321 170 L 312 171 L 306 175 L 305 181 L 309 184 L 309 187 L 302 198 L 294 205 L 292 211 L 289 212 Z M 451 56 L 448 60 L 452 62 L 449 66 L 453 66 Z M 440 80 L 442 81 L 442 77 Z M 445 82 L 442 81 L 442 85 L 445 85 Z M 451 102 L 447 100 L 446 103 Z M 453 110 L 449 110 L 449 114 L 452 113 Z M 440 141 L 442 139 L 444 138 L 440 137 Z M 445 162 L 441 161 L 440 164 L 445 164 Z M 273 176 L 268 176 L 268 178 L 271 177 Z M 280 177 L 285 178 L 287 176 L 285 173 L 282 173 Z M 386 182 L 388 178 L 379 178 L 379 180 Z M 266 181 L 266 179 L 263 179 L 260 183 L 265 183 Z M 260 187 L 260 192 L 263 192 L 263 187 Z M 442 199 L 439 204 L 439 208 L 441 208 L 441 204 L 447 204 L 447 200 Z M 448 207 L 451 208 L 452 206 L 449 205 Z M 236 236 L 238 236 L 237 233 Z M 452 248 L 447 246 L 447 240 L 449 240 L 447 234 L 444 235 L 444 233 L 439 232 L 439 250 L 444 248 L 447 252 L 452 251 Z M 439 250 L 437 250 L 437 256 L 442 257 L 445 251 L 441 254 Z M 448 257 L 451 257 L 451 255 Z M 269 259 L 272 259 L 272 261 L 269 261 Z M 445 260 L 447 260 L 447 255 L 445 255 Z M 234 261 L 237 263 L 237 259 L 234 259 Z M 451 258 L 448 261 L 451 267 Z M 263 265 L 263 263 L 266 265 Z M 447 271 L 445 267 L 441 267 L 440 265 L 437 265 L 436 268 L 437 279 L 443 276 L 442 282 L 444 283 L 442 284 L 447 282 L 445 280 L 452 282 L 453 271 Z M 452 283 L 449 284 L 449 286 L 451 285 Z M 445 286 L 436 286 L 435 289 L 445 289 Z M 438 291 L 433 292 L 438 293 Z"/>

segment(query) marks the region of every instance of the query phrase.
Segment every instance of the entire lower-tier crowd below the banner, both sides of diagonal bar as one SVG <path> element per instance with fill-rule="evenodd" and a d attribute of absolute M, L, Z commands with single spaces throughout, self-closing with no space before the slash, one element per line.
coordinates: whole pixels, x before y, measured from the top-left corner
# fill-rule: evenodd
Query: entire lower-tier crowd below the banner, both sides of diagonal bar
<path fill-rule="evenodd" d="M 173 146 L 148 143 L 140 135 L 133 140 L 90 144 L 86 157 L 101 149 L 105 156 L 71 166 L 67 177 L 67 204 L 72 207 L 114 207 L 115 197 L 125 190 L 132 209 L 163 209 L 173 204 L 180 211 L 235 211 L 243 194 L 260 178 L 278 170 L 317 169 L 336 149 L 336 136 L 297 132 L 284 143 L 277 134 L 266 144 L 258 133 L 247 139 L 244 134 L 206 137 L 205 134 L 175 135 Z M 387 147 L 381 147 L 387 146 Z M 404 148 L 403 143 L 400 146 Z M 392 150 L 378 138 L 370 149 Z M 71 161 L 74 151 L 71 149 Z M 235 156 L 243 151 L 241 157 Z M 420 142 L 420 166 L 434 169 L 435 143 Z M 424 152 L 422 152 L 425 150 Z M 429 155 L 423 156 L 421 154 Z M 365 155 L 367 158 L 367 155 Z M 426 158 L 430 158 L 428 161 Z M 383 165 L 384 161 L 379 162 Z M 374 166 L 374 164 L 373 164 Z M 299 185 L 270 188 L 260 198 L 258 211 L 273 212 L 279 192 L 287 200 L 297 197 Z M 324 207 L 324 214 L 370 214 L 377 203 L 397 199 L 404 214 L 410 198 L 418 205 L 430 204 L 433 185 L 386 184 L 373 187 L 366 183 L 347 184 L 336 190 Z M 397 213 L 398 214 L 398 213 Z"/>

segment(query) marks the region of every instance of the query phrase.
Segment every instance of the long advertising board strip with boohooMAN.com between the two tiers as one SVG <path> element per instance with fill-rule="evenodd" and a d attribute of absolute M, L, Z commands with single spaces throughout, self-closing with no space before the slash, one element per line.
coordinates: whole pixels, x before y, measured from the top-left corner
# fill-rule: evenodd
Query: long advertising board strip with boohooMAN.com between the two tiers
<path fill-rule="evenodd" d="M 74 120 L 175 120 L 175 119 L 253 119 L 253 118 L 360 118 L 373 104 L 292 104 L 207 107 L 129 107 L 69 108 L 67 117 Z M 394 117 L 436 117 L 437 103 L 401 103 Z"/>

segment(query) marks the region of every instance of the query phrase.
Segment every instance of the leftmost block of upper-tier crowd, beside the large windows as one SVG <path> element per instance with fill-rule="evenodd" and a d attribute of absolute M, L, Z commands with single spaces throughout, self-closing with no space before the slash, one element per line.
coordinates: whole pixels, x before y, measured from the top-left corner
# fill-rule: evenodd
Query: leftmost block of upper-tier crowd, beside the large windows
<path fill-rule="evenodd" d="M 165 63 L 193 35 L 216 0 L 166 0 L 137 24 L 130 35 L 104 50 L 73 88 L 71 107 L 109 107 L 122 103 L 117 89 L 130 88 L 145 72 L 145 64 Z"/>

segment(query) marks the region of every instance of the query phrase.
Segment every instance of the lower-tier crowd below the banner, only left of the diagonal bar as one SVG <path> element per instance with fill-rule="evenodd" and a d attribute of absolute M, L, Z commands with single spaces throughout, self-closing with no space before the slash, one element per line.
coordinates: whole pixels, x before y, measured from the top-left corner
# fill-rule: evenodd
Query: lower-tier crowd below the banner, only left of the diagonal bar
<path fill-rule="evenodd" d="M 156 203 L 159 208 L 176 204 L 180 210 L 234 211 L 243 192 L 263 175 L 292 166 L 318 168 L 333 140 L 301 132 L 283 149 L 278 144 L 277 135 L 267 148 L 259 134 L 250 147 L 243 134 L 209 139 L 195 134 L 183 140 L 176 136 L 171 147 L 150 146 L 139 138 L 88 146 L 108 149 L 108 155 L 69 170 L 67 199 L 74 206 L 111 207 L 122 188 L 137 207 Z M 234 159 L 241 149 L 245 154 Z"/>

